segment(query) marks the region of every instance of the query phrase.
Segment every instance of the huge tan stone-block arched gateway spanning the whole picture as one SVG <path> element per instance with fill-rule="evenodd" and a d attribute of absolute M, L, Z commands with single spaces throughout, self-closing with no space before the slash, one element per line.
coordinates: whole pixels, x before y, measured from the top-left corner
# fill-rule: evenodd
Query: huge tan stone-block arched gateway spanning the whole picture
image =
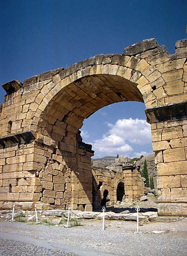
<path fill-rule="evenodd" d="M 148 39 L 121 55 L 97 55 L 2 85 L 0 200 L 92 209 L 94 152 L 79 129 L 108 104 L 140 101 L 151 124 L 159 212 L 187 215 L 186 58 L 186 39 L 176 42 L 173 55 Z"/>

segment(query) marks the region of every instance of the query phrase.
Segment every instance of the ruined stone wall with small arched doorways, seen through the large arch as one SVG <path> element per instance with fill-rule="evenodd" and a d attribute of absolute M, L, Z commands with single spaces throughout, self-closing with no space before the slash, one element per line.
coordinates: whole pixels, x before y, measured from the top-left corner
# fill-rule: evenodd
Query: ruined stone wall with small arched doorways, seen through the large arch
<path fill-rule="evenodd" d="M 117 170 L 116 170 L 117 169 Z M 138 200 L 144 194 L 140 171 L 133 166 L 117 166 L 115 170 L 92 166 L 93 207 L 101 205 L 103 192 L 108 191 L 107 205 L 117 202 L 117 186 L 124 184 L 124 199 Z"/>

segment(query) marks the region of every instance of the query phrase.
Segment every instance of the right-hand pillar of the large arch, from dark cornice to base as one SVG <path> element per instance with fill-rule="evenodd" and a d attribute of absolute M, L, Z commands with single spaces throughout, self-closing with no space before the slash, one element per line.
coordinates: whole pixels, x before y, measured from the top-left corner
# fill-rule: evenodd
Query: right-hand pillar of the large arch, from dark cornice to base
<path fill-rule="evenodd" d="M 187 102 L 145 110 L 157 164 L 159 215 L 187 216 Z"/>

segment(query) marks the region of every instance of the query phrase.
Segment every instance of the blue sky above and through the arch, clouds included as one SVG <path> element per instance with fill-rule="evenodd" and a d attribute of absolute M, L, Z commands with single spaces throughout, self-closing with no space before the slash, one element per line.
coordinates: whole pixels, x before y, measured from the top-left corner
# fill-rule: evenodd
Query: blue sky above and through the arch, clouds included
<path fill-rule="evenodd" d="M 186 12 L 186 0 L 1 0 L 0 82 L 23 82 L 96 54 L 122 53 L 152 37 L 172 54 L 175 42 L 187 37 Z M 0 103 L 4 95 L 0 88 Z M 143 103 L 115 103 L 85 120 L 83 139 L 95 157 L 151 153 L 144 109 Z"/>

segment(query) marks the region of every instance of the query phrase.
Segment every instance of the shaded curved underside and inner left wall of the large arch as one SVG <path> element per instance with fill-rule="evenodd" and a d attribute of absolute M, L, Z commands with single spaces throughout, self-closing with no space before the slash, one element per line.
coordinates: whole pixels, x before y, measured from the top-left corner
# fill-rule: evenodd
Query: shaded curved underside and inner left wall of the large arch
<path fill-rule="evenodd" d="M 48 104 L 43 111 L 43 107 L 39 107 L 41 114 L 38 132 L 44 136 L 44 145 L 53 147 L 52 161 L 55 163 L 55 165 L 46 163 L 41 173 L 42 183 L 45 181 L 46 170 L 51 164 L 52 169 L 56 168 L 52 172 L 57 176 L 63 176 L 63 178 L 52 177 L 52 181 L 65 184 L 64 191 L 60 191 L 60 185 L 55 184 L 53 190 L 56 190 L 56 199 L 48 200 L 49 203 L 57 202 L 59 205 L 65 205 L 65 208 L 71 203 L 74 209 L 92 209 L 91 157 L 94 151 L 91 145 L 83 142 L 79 130 L 86 118 L 104 106 L 122 101 L 144 101 L 135 83 L 142 75 L 131 71 L 129 68 L 128 79 L 122 76 L 126 74 L 124 68 L 120 71 L 120 75 L 103 73 L 86 75 L 70 83 L 66 81 L 66 86 L 62 89 L 59 90 L 58 87 L 51 89 L 57 92 L 51 100 L 46 98 Z M 47 86 L 50 88 L 53 83 L 49 82 Z M 46 188 L 42 190 L 43 202 L 47 202 L 46 190 Z"/>

